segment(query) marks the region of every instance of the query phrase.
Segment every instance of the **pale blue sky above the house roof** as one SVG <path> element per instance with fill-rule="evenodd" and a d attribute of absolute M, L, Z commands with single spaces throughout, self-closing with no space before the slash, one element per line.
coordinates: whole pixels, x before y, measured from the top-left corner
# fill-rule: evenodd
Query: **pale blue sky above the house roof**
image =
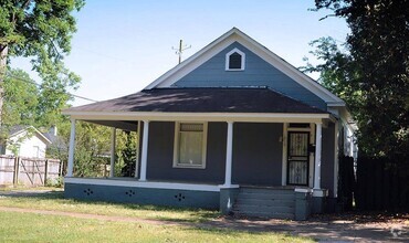
<path fill-rule="evenodd" d="M 311 41 L 343 42 L 348 33 L 343 19 L 319 21 L 329 12 L 312 8 L 314 0 L 87 0 L 74 13 L 77 32 L 64 61 L 82 77 L 72 93 L 94 101 L 136 93 L 178 64 L 172 47 L 179 40 L 191 46 L 186 60 L 233 27 L 292 65 L 305 65 Z M 11 66 L 30 70 L 23 59 Z M 72 105 L 87 103 L 75 98 Z"/>

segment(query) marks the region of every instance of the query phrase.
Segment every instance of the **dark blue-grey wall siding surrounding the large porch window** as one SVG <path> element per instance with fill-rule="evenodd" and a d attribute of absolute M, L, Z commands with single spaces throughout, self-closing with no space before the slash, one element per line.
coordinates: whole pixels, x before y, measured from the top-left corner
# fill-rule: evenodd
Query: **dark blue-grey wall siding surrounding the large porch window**
<path fill-rule="evenodd" d="M 208 124 L 204 169 L 174 168 L 175 123 L 153 122 L 149 126 L 148 180 L 212 183 L 224 181 L 227 124 Z"/>

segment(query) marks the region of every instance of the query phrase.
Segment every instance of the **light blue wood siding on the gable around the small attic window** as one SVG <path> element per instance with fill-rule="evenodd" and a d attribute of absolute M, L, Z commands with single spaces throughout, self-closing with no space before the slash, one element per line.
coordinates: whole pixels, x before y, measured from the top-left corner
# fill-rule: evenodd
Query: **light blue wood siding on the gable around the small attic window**
<path fill-rule="evenodd" d="M 245 53 L 244 71 L 226 71 L 226 54 L 234 47 Z M 174 84 L 178 87 L 269 86 L 294 99 L 326 109 L 318 96 L 280 72 L 238 42 L 214 55 Z"/>

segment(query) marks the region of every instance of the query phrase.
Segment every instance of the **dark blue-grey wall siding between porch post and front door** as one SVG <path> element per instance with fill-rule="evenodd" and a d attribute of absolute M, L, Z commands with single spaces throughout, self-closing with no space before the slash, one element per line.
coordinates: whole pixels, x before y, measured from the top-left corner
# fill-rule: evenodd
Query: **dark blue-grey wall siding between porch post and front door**
<path fill-rule="evenodd" d="M 232 182 L 281 186 L 283 124 L 235 123 Z"/>

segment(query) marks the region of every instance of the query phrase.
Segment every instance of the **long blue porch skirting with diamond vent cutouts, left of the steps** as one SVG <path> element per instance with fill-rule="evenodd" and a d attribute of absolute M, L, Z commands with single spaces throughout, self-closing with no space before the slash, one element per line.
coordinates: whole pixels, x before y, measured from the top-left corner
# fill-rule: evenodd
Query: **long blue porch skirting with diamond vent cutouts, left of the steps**
<path fill-rule="evenodd" d="M 175 186 L 174 189 L 167 188 Z M 179 187 L 178 187 L 179 186 Z M 65 178 L 65 198 L 218 210 L 218 186 Z M 196 190 L 195 190 L 196 188 Z"/>

